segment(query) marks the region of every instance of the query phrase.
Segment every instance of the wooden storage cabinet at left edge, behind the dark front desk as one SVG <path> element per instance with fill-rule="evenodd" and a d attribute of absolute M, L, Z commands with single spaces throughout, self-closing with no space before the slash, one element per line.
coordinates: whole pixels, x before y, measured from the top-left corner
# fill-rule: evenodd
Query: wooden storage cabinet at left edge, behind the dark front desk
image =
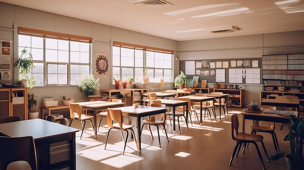
<path fill-rule="evenodd" d="M 20 116 L 21 120 L 27 120 L 27 88 L 1 88 L 0 108 L 0 117 Z"/>

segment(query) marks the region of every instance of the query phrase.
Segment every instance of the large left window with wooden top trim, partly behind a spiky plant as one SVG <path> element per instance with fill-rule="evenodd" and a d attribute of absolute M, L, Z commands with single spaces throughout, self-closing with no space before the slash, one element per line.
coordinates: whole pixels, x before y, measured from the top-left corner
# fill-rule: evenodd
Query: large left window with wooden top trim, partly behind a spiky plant
<path fill-rule="evenodd" d="M 91 40 L 87 37 L 18 28 L 18 51 L 33 55 L 36 86 L 78 85 L 90 73 Z M 20 54 L 19 54 L 20 55 Z"/>

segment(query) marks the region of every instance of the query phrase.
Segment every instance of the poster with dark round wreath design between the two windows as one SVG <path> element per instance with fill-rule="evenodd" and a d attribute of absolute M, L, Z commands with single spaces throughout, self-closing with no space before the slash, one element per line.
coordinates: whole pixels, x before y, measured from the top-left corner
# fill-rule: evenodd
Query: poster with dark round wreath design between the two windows
<path fill-rule="evenodd" d="M 108 53 L 95 52 L 95 76 L 108 77 L 109 76 L 109 58 Z"/>

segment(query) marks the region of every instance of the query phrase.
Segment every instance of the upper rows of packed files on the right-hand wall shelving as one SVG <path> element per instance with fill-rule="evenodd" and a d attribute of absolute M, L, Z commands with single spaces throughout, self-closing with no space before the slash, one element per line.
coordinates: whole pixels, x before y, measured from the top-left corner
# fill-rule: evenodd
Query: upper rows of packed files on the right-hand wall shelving
<path fill-rule="evenodd" d="M 263 79 L 304 80 L 304 54 L 265 55 Z"/>

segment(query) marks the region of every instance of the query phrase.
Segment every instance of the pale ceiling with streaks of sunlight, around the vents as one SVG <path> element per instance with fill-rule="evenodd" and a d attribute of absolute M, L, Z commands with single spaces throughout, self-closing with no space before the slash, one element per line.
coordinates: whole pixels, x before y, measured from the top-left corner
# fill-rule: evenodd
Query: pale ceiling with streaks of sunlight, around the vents
<path fill-rule="evenodd" d="M 304 30 L 304 0 L 166 0 L 165 5 L 140 3 L 147 0 L 0 1 L 177 41 Z M 241 30 L 203 30 L 220 26 Z"/>

